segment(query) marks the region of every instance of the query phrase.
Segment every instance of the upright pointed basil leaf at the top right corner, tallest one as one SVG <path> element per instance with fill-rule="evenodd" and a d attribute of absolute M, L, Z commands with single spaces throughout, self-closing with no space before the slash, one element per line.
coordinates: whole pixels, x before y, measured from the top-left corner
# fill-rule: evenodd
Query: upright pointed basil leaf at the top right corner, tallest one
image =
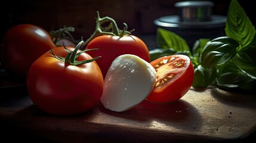
<path fill-rule="evenodd" d="M 230 2 L 225 33 L 226 36 L 238 41 L 240 45 L 238 51 L 248 46 L 254 40 L 255 28 L 236 0 Z"/>

